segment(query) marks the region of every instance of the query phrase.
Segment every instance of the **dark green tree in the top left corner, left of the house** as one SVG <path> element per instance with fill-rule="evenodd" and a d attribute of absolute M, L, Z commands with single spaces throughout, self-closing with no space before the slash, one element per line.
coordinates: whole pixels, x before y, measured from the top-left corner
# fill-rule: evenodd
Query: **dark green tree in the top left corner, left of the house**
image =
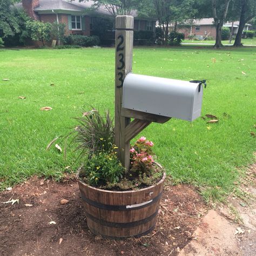
<path fill-rule="evenodd" d="M 0 37 L 2 38 L 14 36 L 19 32 L 18 19 L 11 11 L 11 5 L 14 2 L 12 0 L 0 1 Z"/>

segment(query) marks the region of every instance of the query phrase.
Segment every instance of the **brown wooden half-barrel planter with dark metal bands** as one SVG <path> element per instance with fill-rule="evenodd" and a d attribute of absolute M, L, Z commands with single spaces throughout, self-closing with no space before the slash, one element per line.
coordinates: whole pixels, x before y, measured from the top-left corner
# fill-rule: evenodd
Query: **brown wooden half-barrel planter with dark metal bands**
<path fill-rule="evenodd" d="M 136 191 L 109 191 L 79 180 L 87 225 L 92 233 L 106 238 L 141 237 L 153 231 L 164 188 L 163 178 Z"/>

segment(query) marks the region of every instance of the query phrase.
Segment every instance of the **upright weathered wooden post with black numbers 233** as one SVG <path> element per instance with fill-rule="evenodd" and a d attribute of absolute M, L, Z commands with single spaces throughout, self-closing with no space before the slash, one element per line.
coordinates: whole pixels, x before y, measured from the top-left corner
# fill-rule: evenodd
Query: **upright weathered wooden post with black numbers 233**
<path fill-rule="evenodd" d="M 125 142 L 125 127 L 130 124 L 131 119 L 123 117 L 121 110 L 124 78 L 132 71 L 132 49 L 133 17 L 117 16 L 114 140 L 118 147 L 118 158 L 125 167 L 126 173 L 130 167 L 130 140 Z"/>

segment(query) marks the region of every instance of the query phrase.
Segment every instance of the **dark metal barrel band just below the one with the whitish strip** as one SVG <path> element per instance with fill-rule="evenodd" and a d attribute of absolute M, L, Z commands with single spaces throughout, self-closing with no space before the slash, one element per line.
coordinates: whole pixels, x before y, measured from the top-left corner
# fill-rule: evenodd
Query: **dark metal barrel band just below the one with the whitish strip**
<path fill-rule="evenodd" d="M 148 223 L 149 221 L 151 221 L 152 219 L 154 219 L 157 216 L 157 213 L 158 213 L 158 209 L 156 212 L 154 212 L 152 215 L 150 215 L 149 217 L 147 217 L 145 219 L 137 220 L 137 221 L 133 221 L 133 222 L 129 222 L 129 223 L 115 223 L 115 222 L 101 220 L 101 219 L 98 219 L 98 218 L 92 216 L 88 212 L 85 212 L 85 215 L 86 215 L 86 218 L 89 218 L 92 221 L 94 221 L 100 225 L 103 225 L 103 226 L 116 227 L 116 228 L 130 228 L 130 227 L 137 227 L 139 225 Z"/>

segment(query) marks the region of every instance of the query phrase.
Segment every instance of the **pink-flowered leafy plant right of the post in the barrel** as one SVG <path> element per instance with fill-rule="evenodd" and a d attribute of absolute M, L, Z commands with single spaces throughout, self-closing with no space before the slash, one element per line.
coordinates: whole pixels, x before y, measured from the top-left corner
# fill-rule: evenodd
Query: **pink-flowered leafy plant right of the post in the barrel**
<path fill-rule="evenodd" d="M 145 137 L 140 137 L 137 142 L 130 149 L 130 170 L 139 174 L 149 174 L 152 170 L 152 164 L 154 155 L 152 146 L 154 144 Z"/>

